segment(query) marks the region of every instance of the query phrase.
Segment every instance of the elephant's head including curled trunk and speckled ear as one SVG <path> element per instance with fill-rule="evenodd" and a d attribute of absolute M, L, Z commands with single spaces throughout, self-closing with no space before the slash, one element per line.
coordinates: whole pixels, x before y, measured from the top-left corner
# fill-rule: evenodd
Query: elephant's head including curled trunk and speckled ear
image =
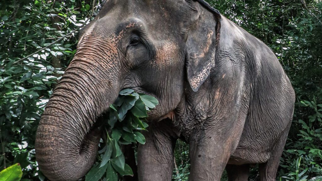
<path fill-rule="evenodd" d="M 175 110 L 185 89 L 197 91 L 210 74 L 219 20 L 199 0 L 107 0 L 83 28 L 42 115 L 35 145 L 42 172 L 51 180 L 88 172 L 100 138 L 96 119 L 122 89 L 159 100 L 151 120 Z"/>

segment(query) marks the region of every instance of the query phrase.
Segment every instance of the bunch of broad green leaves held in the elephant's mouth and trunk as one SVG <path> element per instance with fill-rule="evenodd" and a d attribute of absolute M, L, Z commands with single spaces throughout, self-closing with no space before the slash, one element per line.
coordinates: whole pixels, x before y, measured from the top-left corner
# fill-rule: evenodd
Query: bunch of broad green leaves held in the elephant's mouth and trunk
<path fill-rule="evenodd" d="M 98 181 L 104 173 L 109 181 L 133 175 L 131 167 L 125 163 L 121 145 L 145 144 L 145 138 L 139 131 L 146 130 L 147 112 L 157 104 L 156 98 L 132 89 L 119 92 L 117 100 L 109 108 L 106 137 L 101 145 L 103 148 L 99 150 L 99 161 L 87 173 L 86 181 Z"/>

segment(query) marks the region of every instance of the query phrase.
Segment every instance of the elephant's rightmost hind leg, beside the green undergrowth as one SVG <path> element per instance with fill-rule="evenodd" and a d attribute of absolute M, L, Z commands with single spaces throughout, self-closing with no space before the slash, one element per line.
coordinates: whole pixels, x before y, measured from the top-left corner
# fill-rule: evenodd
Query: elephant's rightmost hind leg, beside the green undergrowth
<path fill-rule="evenodd" d="M 277 141 L 274 150 L 270 154 L 270 158 L 266 163 L 259 164 L 260 181 L 275 181 L 277 169 L 279 167 L 279 158 L 283 153 L 286 138 L 289 133 L 289 126 L 283 131 L 282 136 Z"/>

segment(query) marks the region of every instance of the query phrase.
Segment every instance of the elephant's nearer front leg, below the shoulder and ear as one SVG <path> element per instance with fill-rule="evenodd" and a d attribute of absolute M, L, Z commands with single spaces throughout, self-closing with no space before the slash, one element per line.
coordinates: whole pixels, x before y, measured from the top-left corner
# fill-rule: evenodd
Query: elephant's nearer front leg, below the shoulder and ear
<path fill-rule="evenodd" d="M 228 159 L 238 145 L 240 133 L 237 132 L 232 134 L 202 130 L 189 141 L 189 181 L 220 181 Z"/>

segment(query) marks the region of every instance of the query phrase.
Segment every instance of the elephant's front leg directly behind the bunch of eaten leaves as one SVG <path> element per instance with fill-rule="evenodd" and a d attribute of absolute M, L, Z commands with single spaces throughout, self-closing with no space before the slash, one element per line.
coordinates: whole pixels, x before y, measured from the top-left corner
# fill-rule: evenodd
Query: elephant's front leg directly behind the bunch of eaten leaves
<path fill-rule="evenodd" d="M 163 125 L 150 125 L 144 132 L 146 143 L 139 145 L 137 162 L 139 181 L 171 181 L 176 138 Z"/>

